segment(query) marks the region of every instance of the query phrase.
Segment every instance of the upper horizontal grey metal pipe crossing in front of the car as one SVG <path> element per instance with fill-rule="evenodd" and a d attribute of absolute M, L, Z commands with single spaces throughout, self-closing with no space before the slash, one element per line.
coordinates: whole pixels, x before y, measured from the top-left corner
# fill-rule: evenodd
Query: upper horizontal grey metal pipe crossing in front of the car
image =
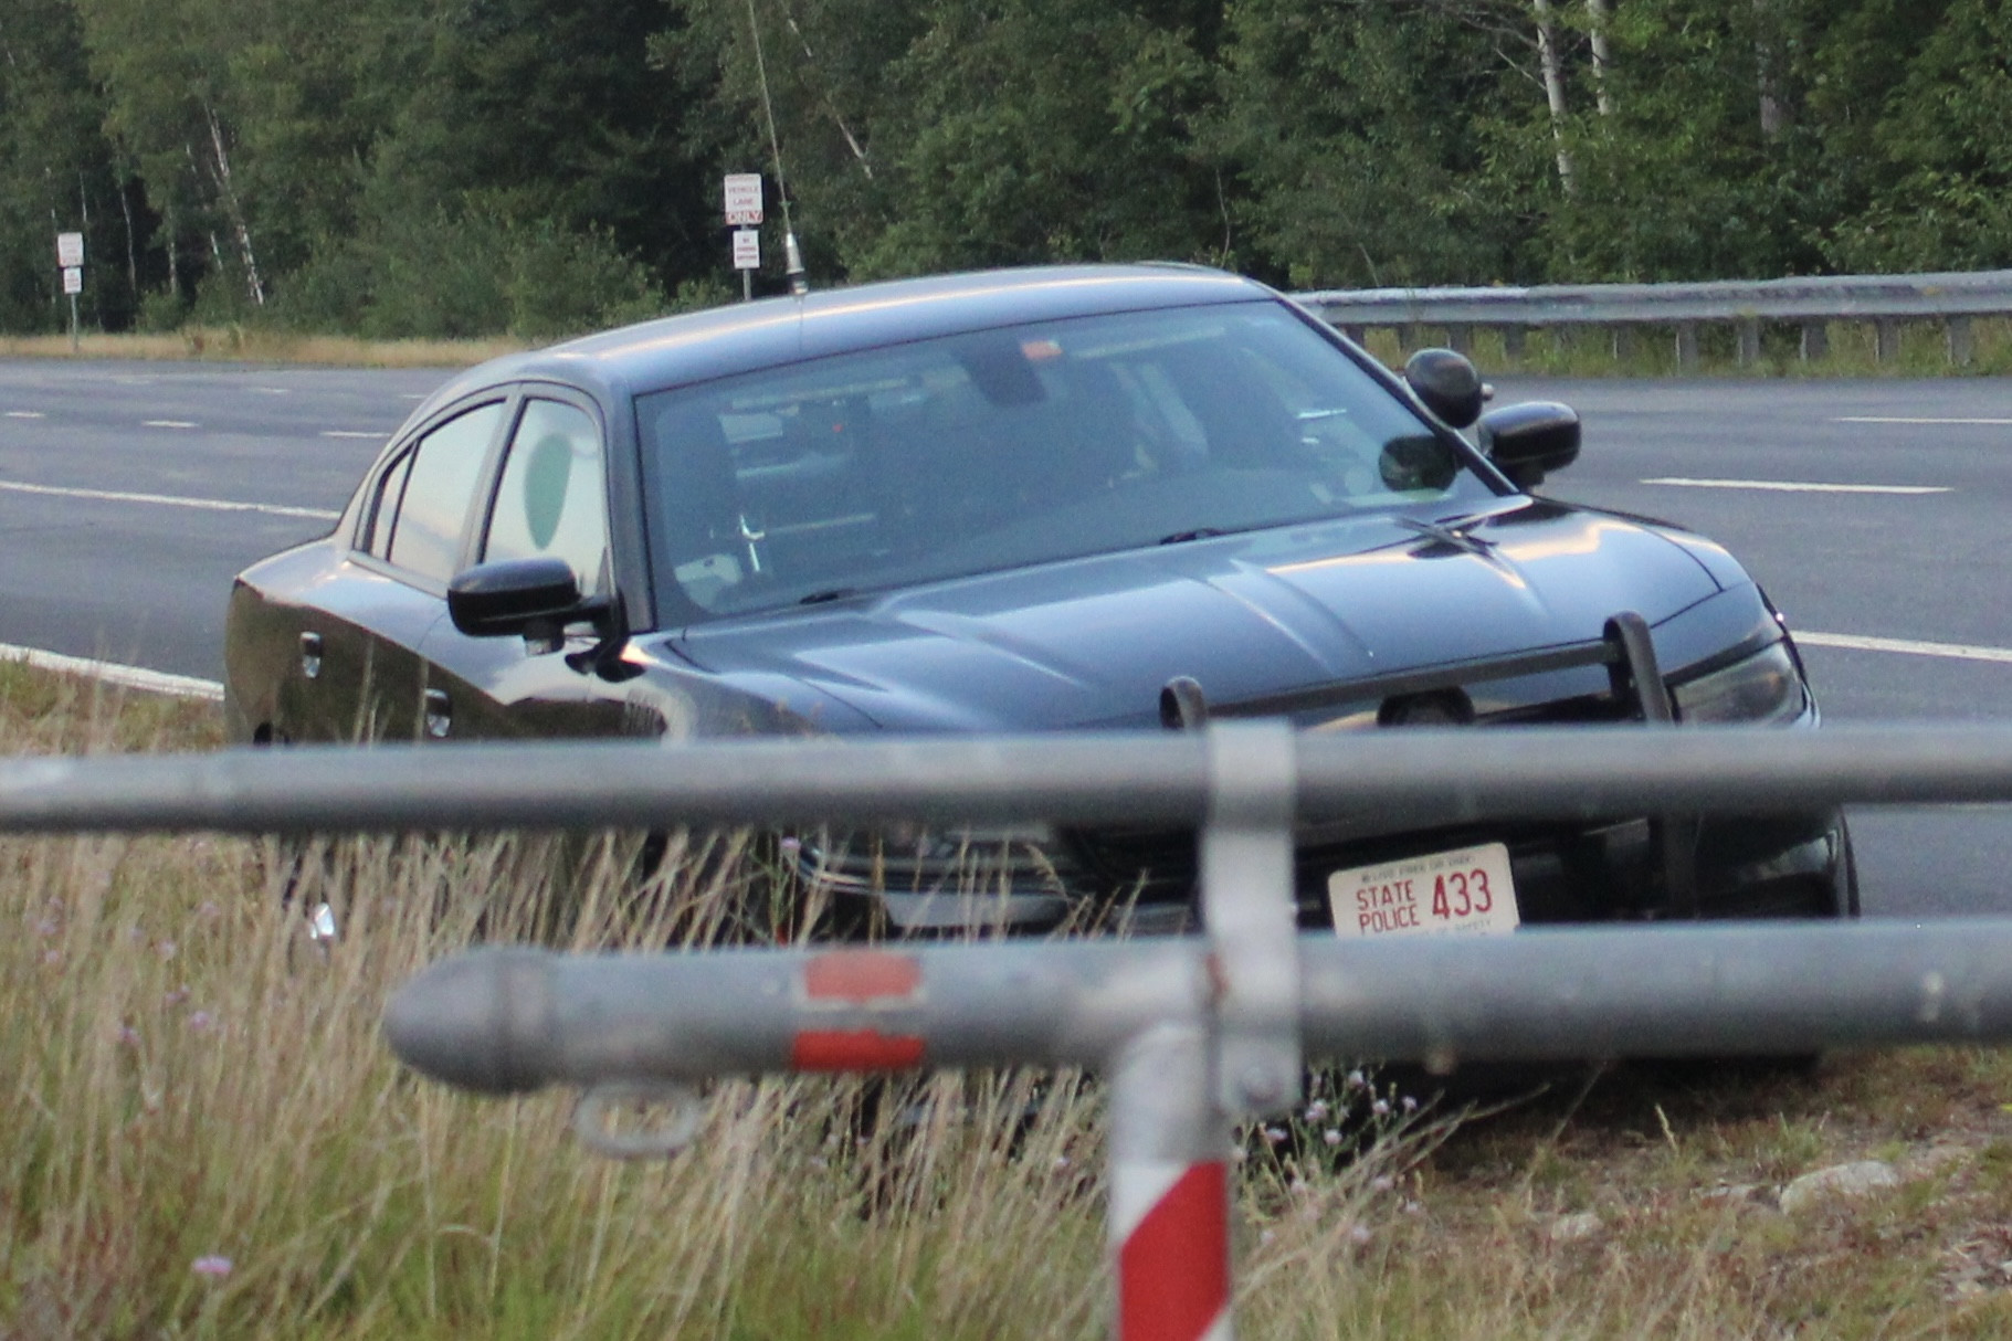
<path fill-rule="evenodd" d="M 1211 724 L 1227 730 L 1233 724 Z M 817 820 L 1201 824 L 1207 732 L 348 746 L 0 764 L 0 832 L 394 832 Z M 1282 746 L 1284 748 L 1284 746 Z M 2012 728 L 1300 734 L 1296 812 L 1471 818 L 2012 800 Z"/>

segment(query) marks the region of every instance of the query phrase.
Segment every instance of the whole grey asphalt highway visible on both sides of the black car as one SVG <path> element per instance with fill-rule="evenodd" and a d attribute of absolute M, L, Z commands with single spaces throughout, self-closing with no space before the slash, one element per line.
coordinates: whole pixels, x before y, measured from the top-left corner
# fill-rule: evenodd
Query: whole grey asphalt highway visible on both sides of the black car
<path fill-rule="evenodd" d="M 217 678 L 254 559 L 326 533 L 443 370 L 0 362 L 0 643 Z M 1732 549 L 1833 722 L 2012 716 L 2012 386 L 1539 382 L 1585 418 L 1545 493 Z M 1867 911 L 2012 911 L 2012 812 L 1853 816 Z"/>

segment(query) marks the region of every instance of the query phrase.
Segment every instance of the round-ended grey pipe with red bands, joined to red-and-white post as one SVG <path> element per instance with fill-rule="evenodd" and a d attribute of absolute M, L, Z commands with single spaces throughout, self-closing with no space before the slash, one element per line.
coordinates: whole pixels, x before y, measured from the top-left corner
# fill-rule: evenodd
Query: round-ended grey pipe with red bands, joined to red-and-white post
<path fill-rule="evenodd" d="M 662 1015 L 652 1011 L 662 1001 L 648 965 L 664 961 L 628 957 L 604 975 L 590 965 L 592 987 L 581 993 L 553 977 L 555 965 L 563 975 L 579 961 L 505 951 L 489 961 L 493 971 L 463 961 L 441 969 L 435 987 L 414 983 L 386 1027 L 423 1068 L 449 1068 L 491 1090 L 585 1064 L 575 1128 L 622 1156 L 650 1152 L 650 1142 L 612 1132 L 610 1104 L 638 1094 L 670 1100 L 678 1116 L 658 1142 L 670 1150 L 698 1128 L 698 1100 L 678 1082 L 702 1076 L 905 1070 L 954 1064 L 960 1047 L 974 1049 L 972 1064 L 1014 1058 L 1028 1043 L 1048 1060 L 1084 1049 L 1111 1090 L 1117 1335 L 1229 1341 L 1231 1114 L 1290 1104 L 1300 1082 L 1292 740 L 1284 722 L 1239 722 L 1207 736 L 1205 935 L 1097 945 L 1099 957 L 1109 961 L 1117 947 L 1121 959 L 1095 979 L 1068 981 L 1024 953 L 1042 945 L 1006 947 L 1014 953 L 1004 957 L 988 953 L 1000 947 L 972 945 L 948 965 L 905 947 L 684 955 L 682 967 L 722 975 L 708 993 L 696 1066 L 658 1053 L 660 1066 L 596 1076 L 594 1047 L 620 1058 L 660 1037 Z M 974 993 L 980 981 L 986 989 Z M 1028 1019 L 996 1009 L 998 997 L 1062 1009 L 1026 1029 Z M 956 1021 L 948 1031 L 946 1019 Z M 471 1047 L 471 1031 L 489 1047 Z"/>

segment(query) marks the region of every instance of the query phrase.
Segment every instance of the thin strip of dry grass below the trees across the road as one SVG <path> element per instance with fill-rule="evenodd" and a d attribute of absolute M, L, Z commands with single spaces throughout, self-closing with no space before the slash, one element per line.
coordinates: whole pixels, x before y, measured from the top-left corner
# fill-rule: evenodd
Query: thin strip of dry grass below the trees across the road
<path fill-rule="evenodd" d="M 135 358 L 312 364 L 332 368 L 469 368 L 531 348 L 521 340 L 356 340 L 243 326 L 189 326 L 157 336 L 0 336 L 0 358 Z"/>

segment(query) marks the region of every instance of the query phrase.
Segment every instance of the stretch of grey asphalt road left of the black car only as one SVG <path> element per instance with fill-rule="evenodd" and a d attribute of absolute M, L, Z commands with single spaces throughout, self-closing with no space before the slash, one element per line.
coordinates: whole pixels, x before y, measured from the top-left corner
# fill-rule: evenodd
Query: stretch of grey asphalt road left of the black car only
<path fill-rule="evenodd" d="M 326 535 L 447 376 L 0 362 L 0 643 L 217 680 L 231 575 Z"/>

